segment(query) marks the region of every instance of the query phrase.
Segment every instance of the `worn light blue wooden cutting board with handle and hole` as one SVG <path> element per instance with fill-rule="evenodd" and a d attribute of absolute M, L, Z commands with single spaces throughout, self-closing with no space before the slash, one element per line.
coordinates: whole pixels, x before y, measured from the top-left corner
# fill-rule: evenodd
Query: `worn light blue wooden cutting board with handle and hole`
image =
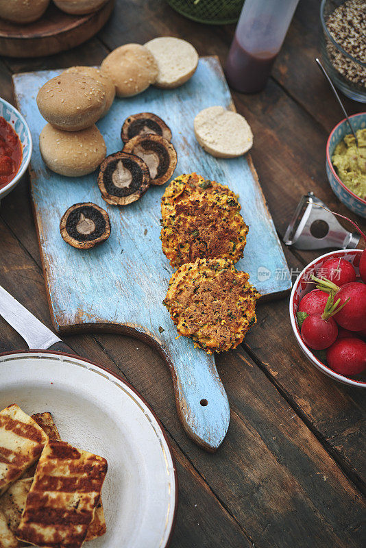
<path fill-rule="evenodd" d="M 186 432 L 196 443 L 214 451 L 230 420 L 215 358 L 195 349 L 188 338 L 176 339 L 173 322 L 162 305 L 173 273 L 159 240 L 160 199 L 165 186 L 150 187 L 142 199 L 118 208 L 101 198 L 97 173 L 71 179 L 49 171 L 38 147 L 45 120 L 38 112 L 36 95 L 58 73 L 14 76 L 16 99 L 34 141 L 32 198 L 53 324 L 61 334 L 97 329 L 124 332 L 156 347 L 171 369 L 178 414 Z M 121 125 L 127 116 L 137 112 L 160 116 L 171 128 L 178 152 L 175 176 L 196 171 L 228 184 L 239 195 L 249 235 L 244 258 L 236 268 L 247 271 L 250 282 L 267 299 L 278 297 L 291 288 L 291 282 L 252 159 L 249 155 L 213 158 L 195 140 L 193 119 L 212 105 L 234 108 L 219 61 L 208 57 L 199 60 L 195 75 L 180 88 L 150 87 L 136 97 L 116 99 L 97 126 L 110 154 L 121 149 Z M 59 232 L 66 209 L 84 201 L 106 209 L 112 225 L 110 238 L 88 251 L 70 247 Z"/>

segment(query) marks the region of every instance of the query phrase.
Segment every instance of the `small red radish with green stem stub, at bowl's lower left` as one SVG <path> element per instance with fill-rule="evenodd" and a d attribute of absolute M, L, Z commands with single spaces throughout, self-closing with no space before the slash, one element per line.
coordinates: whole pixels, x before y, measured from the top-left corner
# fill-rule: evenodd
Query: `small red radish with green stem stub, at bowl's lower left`
<path fill-rule="evenodd" d="M 304 343 L 313 350 L 324 350 L 334 343 L 338 335 L 337 323 L 332 316 L 341 310 L 339 301 L 334 303 L 331 293 L 328 296 L 323 314 L 310 314 L 301 327 L 301 336 Z"/>

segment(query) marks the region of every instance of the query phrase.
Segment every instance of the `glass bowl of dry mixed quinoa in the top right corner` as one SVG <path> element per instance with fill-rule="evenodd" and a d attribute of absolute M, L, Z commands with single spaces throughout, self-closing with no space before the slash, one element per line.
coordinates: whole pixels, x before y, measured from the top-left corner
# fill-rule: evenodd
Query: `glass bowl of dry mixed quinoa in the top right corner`
<path fill-rule="evenodd" d="M 322 0 L 321 55 L 344 95 L 366 103 L 366 0 Z"/>

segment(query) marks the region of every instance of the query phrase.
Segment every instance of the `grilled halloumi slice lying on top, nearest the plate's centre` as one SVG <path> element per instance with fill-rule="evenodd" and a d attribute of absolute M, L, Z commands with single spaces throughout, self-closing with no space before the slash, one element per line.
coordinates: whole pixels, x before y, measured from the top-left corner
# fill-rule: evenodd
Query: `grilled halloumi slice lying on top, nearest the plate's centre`
<path fill-rule="evenodd" d="M 107 467 L 102 457 L 49 440 L 16 537 L 39 547 L 81 547 L 99 503 Z"/>

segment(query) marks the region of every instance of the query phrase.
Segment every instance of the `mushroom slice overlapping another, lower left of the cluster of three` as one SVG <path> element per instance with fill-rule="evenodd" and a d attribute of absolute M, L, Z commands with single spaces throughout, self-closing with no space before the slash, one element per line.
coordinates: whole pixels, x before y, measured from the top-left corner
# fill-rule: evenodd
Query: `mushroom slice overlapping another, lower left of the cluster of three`
<path fill-rule="evenodd" d="M 98 185 L 103 200 L 112 206 L 126 206 L 149 188 L 149 168 L 134 154 L 115 152 L 101 162 Z"/>

